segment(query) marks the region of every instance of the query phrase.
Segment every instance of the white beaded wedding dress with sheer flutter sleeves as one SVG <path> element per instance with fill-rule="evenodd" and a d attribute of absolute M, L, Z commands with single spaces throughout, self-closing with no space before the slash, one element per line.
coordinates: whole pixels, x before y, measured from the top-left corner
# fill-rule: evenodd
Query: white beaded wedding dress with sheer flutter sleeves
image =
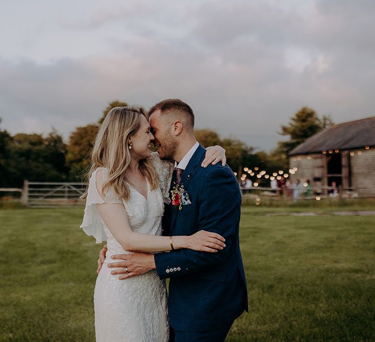
<path fill-rule="evenodd" d="M 127 202 L 122 201 L 113 189 L 105 193 L 103 200 L 95 185 L 97 170 L 92 173 L 89 181 L 81 228 L 87 235 L 93 235 L 97 243 L 106 240 L 108 247 L 94 291 L 95 333 L 99 342 L 168 341 L 165 280 L 161 280 L 155 270 L 125 280 L 119 280 L 119 276 L 110 274 L 112 269 L 107 264 L 116 261 L 111 256 L 131 252 L 125 251 L 117 242 L 96 208 L 96 204 L 123 203 L 133 231 L 161 235 L 164 202 L 169 200 L 173 166 L 161 161 L 157 153 L 152 153 L 150 160 L 158 172 L 160 188 L 151 191 L 147 182 L 147 199 L 129 186 L 130 198 Z M 103 170 L 105 179 L 107 170 Z"/>

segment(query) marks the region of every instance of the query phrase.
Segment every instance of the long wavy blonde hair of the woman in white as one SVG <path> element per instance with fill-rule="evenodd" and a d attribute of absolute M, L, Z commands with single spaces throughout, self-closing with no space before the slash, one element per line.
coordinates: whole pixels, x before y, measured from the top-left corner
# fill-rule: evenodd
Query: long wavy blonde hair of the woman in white
<path fill-rule="evenodd" d="M 127 141 L 139 129 L 141 115 L 148 120 L 147 112 L 143 107 L 114 107 L 109 111 L 96 136 L 91 152 L 90 169 L 87 173 L 89 179 L 96 169 L 106 168 L 108 178 L 103 184 L 103 191 L 113 187 L 115 193 L 125 201 L 130 196 L 125 176 L 131 158 Z M 141 160 L 139 169 L 148 180 L 150 189 L 156 189 L 159 186 L 158 175 L 151 162 L 147 159 Z M 86 196 L 87 191 L 81 198 Z"/>

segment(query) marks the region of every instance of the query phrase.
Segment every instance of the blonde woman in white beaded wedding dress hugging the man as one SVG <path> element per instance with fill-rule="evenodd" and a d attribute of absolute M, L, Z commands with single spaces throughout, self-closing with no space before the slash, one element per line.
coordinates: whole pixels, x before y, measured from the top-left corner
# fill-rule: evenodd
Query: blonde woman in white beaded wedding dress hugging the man
<path fill-rule="evenodd" d="M 161 236 L 173 165 L 150 153 L 153 139 L 142 107 L 115 107 L 108 113 L 91 155 L 81 228 L 97 243 L 107 241 L 106 260 L 172 248 L 223 249 L 224 238 L 215 233 L 199 231 L 173 240 Z M 166 283 L 155 270 L 120 281 L 105 261 L 96 280 L 94 310 L 97 341 L 168 341 Z"/>

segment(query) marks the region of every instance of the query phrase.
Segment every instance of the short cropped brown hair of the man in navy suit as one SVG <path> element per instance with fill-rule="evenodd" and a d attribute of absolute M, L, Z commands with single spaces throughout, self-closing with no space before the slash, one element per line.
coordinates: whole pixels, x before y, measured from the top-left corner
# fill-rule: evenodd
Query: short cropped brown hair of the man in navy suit
<path fill-rule="evenodd" d="M 170 117 L 171 120 L 179 120 L 187 129 L 194 130 L 194 113 L 193 110 L 184 101 L 180 99 L 167 99 L 158 102 L 148 111 L 150 116 L 154 111 L 160 110 L 162 116 Z"/>

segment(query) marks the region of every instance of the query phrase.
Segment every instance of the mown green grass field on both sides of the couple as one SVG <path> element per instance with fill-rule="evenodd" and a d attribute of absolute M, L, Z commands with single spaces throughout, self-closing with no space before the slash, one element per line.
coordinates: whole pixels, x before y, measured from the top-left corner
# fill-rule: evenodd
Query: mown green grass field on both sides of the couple
<path fill-rule="evenodd" d="M 375 216 L 339 210 L 354 209 L 243 207 L 250 313 L 227 341 L 375 341 Z M 0 341 L 95 340 L 100 246 L 82 214 L 0 210 Z"/>

